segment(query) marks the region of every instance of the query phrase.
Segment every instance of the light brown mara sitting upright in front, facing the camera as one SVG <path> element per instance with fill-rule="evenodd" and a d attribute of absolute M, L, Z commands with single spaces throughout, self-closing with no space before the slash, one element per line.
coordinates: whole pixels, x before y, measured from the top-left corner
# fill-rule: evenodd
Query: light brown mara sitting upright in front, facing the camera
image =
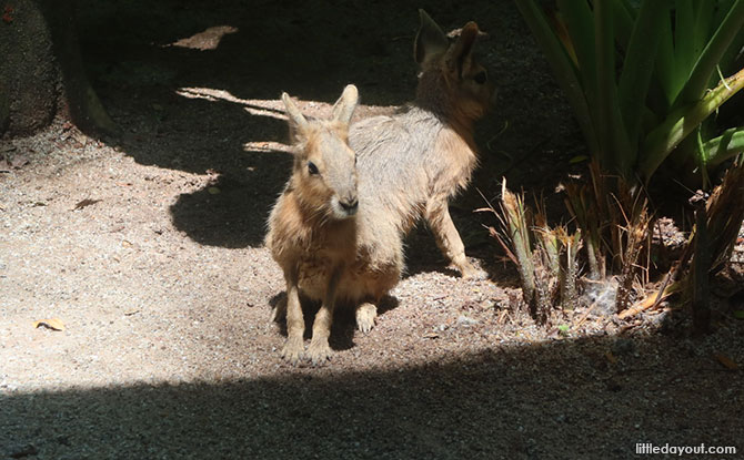
<path fill-rule="evenodd" d="M 292 176 L 269 217 L 267 246 L 282 267 L 286 298 L 275 316 L 286 315 L 282 357 L 296 364 L 324 362 L 338 303 L 356 307 L 356 324 L 369 331 L 379 301 L 400 279 L 403 266 L 400 233 L 388 218 L 379 221 L 369 200 L 358 195 L 356 157 L 348 144 L 356 88 L 346 86 L 330 121 L 308 121 L 286 94 L 290 127 L 295 139 Z M 358 211 L 359 209 L 359 211 Z M 321 300 L 304 352 L 304 319 L 300 294 Z"/>

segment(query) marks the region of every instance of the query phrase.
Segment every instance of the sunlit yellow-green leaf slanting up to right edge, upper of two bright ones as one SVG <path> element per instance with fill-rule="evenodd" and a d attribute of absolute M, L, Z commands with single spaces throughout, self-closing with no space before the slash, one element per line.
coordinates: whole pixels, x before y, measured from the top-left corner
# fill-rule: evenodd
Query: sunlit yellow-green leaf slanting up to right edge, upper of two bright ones
<path fill-rule="evenodd" d="M 649 181 L 674 147 L 742 88 L 744 88 L 744 69 L 722 81 L 700 101 L 670 113 L 666 120 L 646 136 L 640 159 L 639 171 L 642 176 Z"/>

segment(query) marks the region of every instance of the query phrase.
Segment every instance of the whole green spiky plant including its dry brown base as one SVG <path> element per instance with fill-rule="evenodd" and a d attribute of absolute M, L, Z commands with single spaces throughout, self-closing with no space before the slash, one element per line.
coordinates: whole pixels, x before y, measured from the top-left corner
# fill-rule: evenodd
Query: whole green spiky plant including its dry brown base
<path fill-rule="evenodd" d="M 643 195 L 654 174 L 694 171 L 708 187 L 707 168 L 744 151 L 744 126 L 716 126 L 710 116 L 744 88 L 744 69 L 735 67 L 744 0 L 556 0 L 549 13 L 545 2 L 515 2 L 592 159 L 591 183 L 566 187 L 589 276 L 617 274 L 624 309 L 647 254 L 653 217 Z"/>

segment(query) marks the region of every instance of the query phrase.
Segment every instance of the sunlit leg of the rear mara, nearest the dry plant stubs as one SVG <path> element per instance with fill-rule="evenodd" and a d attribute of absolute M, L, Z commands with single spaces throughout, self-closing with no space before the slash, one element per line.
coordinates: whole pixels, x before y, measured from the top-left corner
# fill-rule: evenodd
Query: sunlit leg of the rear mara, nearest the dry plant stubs
<path fill-rule="evenodd" d="M 434 234 L 436 245 L 458 267 L 462 277 L 484 278 L 485 273 L 475 268 L 465 256 L 465 245 L 452 222 L 445 195 L 432 196 L 429 200 L 424 217 Z"/>

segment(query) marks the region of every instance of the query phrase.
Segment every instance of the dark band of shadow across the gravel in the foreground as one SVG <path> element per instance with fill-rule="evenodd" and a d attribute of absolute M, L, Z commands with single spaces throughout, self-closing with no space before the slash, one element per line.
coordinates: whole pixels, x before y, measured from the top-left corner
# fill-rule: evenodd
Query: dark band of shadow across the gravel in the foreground
<path fill-rule="evenodd" d="M 590 338 L 391 370 L 3 396 L 0 456 L 624 459 L 639 442 L 736 446 L 742 371 L 697 345 Z M 691 410 L 680 397 L 703 386 L 718 391 Z"/>

